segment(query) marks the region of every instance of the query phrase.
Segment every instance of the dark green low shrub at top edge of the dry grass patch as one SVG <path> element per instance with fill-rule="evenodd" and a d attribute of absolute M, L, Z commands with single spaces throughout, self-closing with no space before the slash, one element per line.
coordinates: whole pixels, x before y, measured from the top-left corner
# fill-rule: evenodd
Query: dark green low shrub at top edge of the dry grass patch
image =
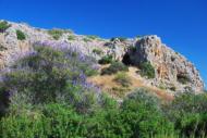
<path fill-rule="evenodd" d="M 125 66 L 122 62 L 112 62 L 111 65 L 107 68 L 101 70 L 101 75 L 111 75 L 118 72 L 127 72 L 129 67 Z"/>

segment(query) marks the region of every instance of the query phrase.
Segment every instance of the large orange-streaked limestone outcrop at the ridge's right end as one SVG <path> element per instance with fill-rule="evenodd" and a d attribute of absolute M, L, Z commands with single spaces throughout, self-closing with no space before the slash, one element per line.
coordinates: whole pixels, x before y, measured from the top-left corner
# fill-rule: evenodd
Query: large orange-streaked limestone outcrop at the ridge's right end
<path fill-rule="evenodd" d="M 130 51 L 133 64 L 150 62 L 156 71 L 153 85 L 165 85 L 166 88 L 175 88 L 176 91 L 202 91 L 204 83 L 195 66 L 183 55 L 161 42 L 157 36 L 146 36 L 137 40 L 135 50 Z M 181 79 L 181 80 L 180 80 Z M 186 83 L 182 83 L 185 79 Z"/>

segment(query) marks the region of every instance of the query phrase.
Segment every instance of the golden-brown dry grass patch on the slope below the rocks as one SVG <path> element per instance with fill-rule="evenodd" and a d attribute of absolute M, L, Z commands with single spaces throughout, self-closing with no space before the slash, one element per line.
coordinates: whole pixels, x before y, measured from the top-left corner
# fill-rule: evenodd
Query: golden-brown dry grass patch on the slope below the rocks
<path fill-rule="evenodd" d="M 109 65 L 104 65 L 101 68 L 107 67 Z M 114 81 L 115 74 L 113 75 L 97 75 L 88 78 L 88 81 L 99 86 L 104 91 L 108 92 L 113 98 L 123 98 L 130 91 L 136 88 L 147 88 L 150 91 L 155 92 L 160 99 L 165 101 L 169 101 L 173 99 L 173 96 L 167 93 L 165 90 L 159 89 L 153 86 L 146 86 L 143 81 L 143 78 L 136 73 L 136 67 L 129 67 L 129 72 L 126 75 L 131 79 L 131 85 L 129 88 L 124 88 L 118 83 Z"/>

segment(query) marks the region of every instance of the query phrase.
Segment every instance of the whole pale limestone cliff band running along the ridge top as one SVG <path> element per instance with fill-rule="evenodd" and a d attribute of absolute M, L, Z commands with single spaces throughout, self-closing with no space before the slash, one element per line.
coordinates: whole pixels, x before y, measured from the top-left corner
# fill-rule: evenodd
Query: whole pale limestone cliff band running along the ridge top
<path fill-rule="evenodd" d="M 126 60 L 132 65 L 150 62 L 155 67 L 156 77 L 145 79 L 146 83 L 157 87 L 165 86 L 169 91 L 172 91 L 172 88 L 175 91 L 192 89 L 196 92 L 204 89 L 204 83 L 195 66 L 183 55 L 163 45 L 157 36 L 108 40 L 63 32 L 60 38 L 56 40 L 48 34 L 47 29 L 34 28 L 26 24 L 12 22 L 9 22 L 9 24 L 11 27 L 4 33 L 0 33 L 1 70 L 9 66 L 17 58 L 32 51 L 34 43 L 40 42 L 77 49 L 97 60 L 110 54 L 115 60 Z M 25 40 L 17 39 L 17 29 L 26 35 Z M 101 52 L 95 52 L 97 50 Z"/>

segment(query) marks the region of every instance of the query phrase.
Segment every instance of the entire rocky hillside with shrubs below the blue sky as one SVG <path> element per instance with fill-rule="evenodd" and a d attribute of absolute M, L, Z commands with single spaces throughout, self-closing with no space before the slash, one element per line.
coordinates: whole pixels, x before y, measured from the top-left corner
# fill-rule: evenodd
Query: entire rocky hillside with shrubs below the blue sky
<path fill-rule="evenodd" d="M 0 21 L 0 138 L 207 137 L 199 72 L 156 35 Z"/>

